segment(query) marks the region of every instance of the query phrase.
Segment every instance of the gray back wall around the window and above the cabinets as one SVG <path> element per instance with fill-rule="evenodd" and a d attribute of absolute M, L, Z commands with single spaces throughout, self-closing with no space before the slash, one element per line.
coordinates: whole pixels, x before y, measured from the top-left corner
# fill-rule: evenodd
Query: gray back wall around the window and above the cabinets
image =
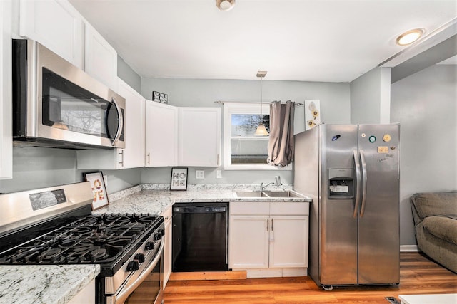
<path fill-rule="evenodd" d="M 350 90 L 348 83 L 312 83 L 301 81 L 263 80 L 263 102 L 273 100 L 321 100 L 321 120 L 326 123 L 350 122 Z M 141 79 L 141 95 L 151 99 L 152 91 L 168 94 L 169 104 L 191 107 L 222 107 L 217 100 L 253 103 L 260 101 L 260 80 L 189 80 L 189 79 Z M 296 108 L 295 131 L 304 130 L 304 108 Z M 224 151 L 224 142 L 222 150 Z M 224 154 L 223 154 L 224 157 Z M 224 163 L 223 161 L 221 163 Z M 205 179 L 195 179 L 195 170 L 203 169 Z M 216 179 L 216 169 L 222 170 L 222 179 Z M 170 182 L 170 168 L 141 169 L 141 182 Z M 189 184 L 260 184 L 273 182 L 281 176 L 283 184 L 293 184 L 291 171 L 224 171 L 219 168 L 189 168 Z"/>

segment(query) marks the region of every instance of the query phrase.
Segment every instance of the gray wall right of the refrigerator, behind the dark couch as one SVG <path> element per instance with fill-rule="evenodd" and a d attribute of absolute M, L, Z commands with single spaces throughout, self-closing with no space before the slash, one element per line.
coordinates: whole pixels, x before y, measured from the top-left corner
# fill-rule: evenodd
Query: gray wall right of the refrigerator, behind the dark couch
<path fill-rule="evenodd" d="M 400 122 L 401 244 L 416 244 L 409 198 L 457 189 L 457 65 L 433 65 L 391 85 Z"/>

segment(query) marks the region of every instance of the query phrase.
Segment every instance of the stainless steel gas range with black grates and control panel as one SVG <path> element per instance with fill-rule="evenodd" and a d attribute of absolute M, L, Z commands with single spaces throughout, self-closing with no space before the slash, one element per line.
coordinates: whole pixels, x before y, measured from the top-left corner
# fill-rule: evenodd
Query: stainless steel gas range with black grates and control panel
<path fill-rule="evenodd" d="M 0 195 L 0 265 L 100 264 L 96 303 L 162 303 L 164 219 L 92 199 L 89 182 Z"/>

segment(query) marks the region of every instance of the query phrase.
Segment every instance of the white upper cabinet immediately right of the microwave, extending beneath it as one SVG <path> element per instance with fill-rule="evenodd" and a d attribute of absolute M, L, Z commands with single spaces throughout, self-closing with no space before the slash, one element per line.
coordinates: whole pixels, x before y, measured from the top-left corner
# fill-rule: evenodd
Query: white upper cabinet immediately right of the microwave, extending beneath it
<path fill-rule="evenodd" d="M 78 150 L 78 169 L 127 169 L 144 167 L 144 98 L 119 79 L 119 95 L 126 99 L 126 147 L 112 150 Z"/>

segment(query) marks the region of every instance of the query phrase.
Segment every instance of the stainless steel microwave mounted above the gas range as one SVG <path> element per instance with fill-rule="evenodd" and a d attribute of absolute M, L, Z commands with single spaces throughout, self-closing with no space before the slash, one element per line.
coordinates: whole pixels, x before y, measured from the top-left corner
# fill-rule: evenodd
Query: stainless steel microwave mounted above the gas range
<path fill-rule="evenodd" d="M 125 98 L 36 41 L 13 40 L 14 145 L 125 147 Z"/>

